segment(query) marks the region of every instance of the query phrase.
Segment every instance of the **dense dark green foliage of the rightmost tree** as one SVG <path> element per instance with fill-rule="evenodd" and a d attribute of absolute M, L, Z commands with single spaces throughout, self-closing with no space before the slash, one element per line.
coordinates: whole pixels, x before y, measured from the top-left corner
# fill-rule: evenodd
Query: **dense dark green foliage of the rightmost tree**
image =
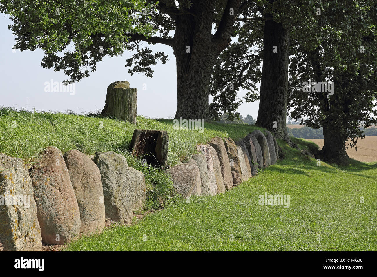
<path fill-rule="evenodd" d="M 359 126 L 376 124 L 377 25 L 375 1 L 318 3 L 321 15 L 303 40 L 292 32 L 288 110 L 292 118 L 326 133 L 351 139 Z M 361 51 L 361 46 L 365 51 Z M 334 94 L 303 91 L 303 82 L 333 81 Z"/>

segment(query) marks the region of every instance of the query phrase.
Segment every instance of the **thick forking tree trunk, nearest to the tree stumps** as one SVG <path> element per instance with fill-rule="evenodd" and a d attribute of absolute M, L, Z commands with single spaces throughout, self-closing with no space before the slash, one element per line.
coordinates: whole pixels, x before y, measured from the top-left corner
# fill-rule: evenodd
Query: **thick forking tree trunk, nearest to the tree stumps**
<path fill-rule="evenodd" d="M 175 118 L 209 121 L 211 74 L 216 59 L 228 46 L 229 40 L 226 34 L 219 37 L 211 33 L 214 0 L 198 1 L 193 6 L 196 16 L 181 15 L 176 20 L 173 49 L 177 66 L 178 105 Z M 230 34 L 232 29 L 227 33 Z"/>

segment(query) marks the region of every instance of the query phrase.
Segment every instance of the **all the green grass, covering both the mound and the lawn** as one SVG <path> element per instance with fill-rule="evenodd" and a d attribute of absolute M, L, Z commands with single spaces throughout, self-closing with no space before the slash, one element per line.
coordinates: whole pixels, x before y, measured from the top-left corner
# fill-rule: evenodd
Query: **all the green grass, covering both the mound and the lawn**
<path fill-rule="evenodd" d="M 147 208 L 161 207 L 161 201 L 169 203 L 132 226 L 106 228 L 70 243 L 66 250 L 377 250 L 377 163 L 351 161 L 332 166 L 322 162 L 317 166 L 316 160 L 279 141 L 284 159 L 256 177 L 221 195 L 192 197 L 190 204 L 173 202 L 168 176 L 129 155 L 135 128 L 168 131 L 170 165 L 189 158 L 196 144 L 214 136 L 238 139 L 255 129 L 205 123 L 205 131 L 199 133 L 174 130 L 167 119 L 138 117 L 135 126 L 95 116 L 0 109 L 0 152 L 28 163 L 48 145 L 87 154 L 112 150 L 145 174 Z M 316 147 L 292 139 L 301 149 Z M 290 208 L 258 205 L 258 196 L 265 192 L 290 194 Z"/>

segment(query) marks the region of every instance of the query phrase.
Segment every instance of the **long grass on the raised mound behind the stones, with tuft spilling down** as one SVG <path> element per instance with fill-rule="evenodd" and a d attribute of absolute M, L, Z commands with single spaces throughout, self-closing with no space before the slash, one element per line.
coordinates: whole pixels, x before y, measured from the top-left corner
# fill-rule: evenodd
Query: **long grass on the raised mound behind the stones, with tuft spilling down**
<path fill-rule="evenodd" d="M 204 123 L 200 130 L 173 129 L 173 120 L 137 117 L 137 124 L 96 115 L 76 115 L 52 112 L 15 111 L 0 108 L 0 152 L 32 163 L 47 146 L 63 153 L 78 149 L 87 155 L 96 151 L 114 151 L 124 155 L 129 166 L 142 171 L 146 177 L 146 209 L 158 208 L 169 201 L 172 184 L 164 171 L 143 166 L 129 155 L 133 130 L 167 130 L 169 135 L 168 164 L 187 161 L 197 153 L 196 144 L 205 144 L 215 136 L 244 138 L 256 129 L 253 125 Z"/>

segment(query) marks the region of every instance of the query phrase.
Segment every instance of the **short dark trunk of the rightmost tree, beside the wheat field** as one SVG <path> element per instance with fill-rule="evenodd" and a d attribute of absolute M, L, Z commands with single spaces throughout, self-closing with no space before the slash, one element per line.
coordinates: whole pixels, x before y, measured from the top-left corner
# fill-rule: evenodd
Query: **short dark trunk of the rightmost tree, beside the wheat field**
<path fill-rule="evenodd" d="M 323 138 L 324 145 L 320 152 L 323 161 L 341 164 L 349 159 L 346 153 L 347 138 L 345 136 L 338 135 L 336 130 L 331 130 L 323 124 Z"/>

